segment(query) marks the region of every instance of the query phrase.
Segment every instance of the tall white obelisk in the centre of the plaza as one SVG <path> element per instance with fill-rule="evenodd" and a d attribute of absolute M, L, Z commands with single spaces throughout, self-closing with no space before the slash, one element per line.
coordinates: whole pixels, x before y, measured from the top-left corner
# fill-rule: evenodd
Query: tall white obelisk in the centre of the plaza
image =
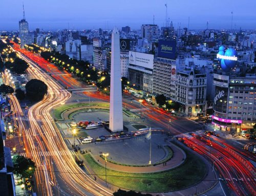
<path fill-rule="evenodd" d="M 110 130 L 112 132 L 123 130 L 120 39 L 117 28 L 112 32 L 111 42 Z"/>

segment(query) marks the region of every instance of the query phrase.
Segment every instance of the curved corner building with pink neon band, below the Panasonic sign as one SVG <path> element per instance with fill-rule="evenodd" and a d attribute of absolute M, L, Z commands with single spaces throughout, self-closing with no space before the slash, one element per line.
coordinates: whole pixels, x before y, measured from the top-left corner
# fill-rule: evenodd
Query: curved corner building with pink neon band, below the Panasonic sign
<path fill-rule="evenodd" d="M 216 128 L 241 132 L 256 121 L 256 76 L 214 74 L 215 98 L 212 123 Z"/>

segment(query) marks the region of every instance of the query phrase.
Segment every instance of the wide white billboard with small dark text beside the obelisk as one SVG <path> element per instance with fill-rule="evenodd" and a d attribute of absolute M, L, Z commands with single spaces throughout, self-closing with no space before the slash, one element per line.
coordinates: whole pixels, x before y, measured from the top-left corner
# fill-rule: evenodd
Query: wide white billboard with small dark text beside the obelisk
<path fill-rule="evenodd" d="M 153 70 L 154 55 L 129 51 L 129 63 Z"/>

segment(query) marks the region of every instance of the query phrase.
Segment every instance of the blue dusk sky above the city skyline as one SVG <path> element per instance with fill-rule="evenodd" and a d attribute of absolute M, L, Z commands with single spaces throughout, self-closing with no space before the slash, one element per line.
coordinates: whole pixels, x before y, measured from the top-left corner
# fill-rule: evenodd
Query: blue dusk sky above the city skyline
<path fill-rule="evenodd" d="M 24 2 L 29 30 L 54 29 L 113 29 L 130 26 L 139 29 L 142 24 L 165 24 L 167 13 L 175 28 L 230 29 L 233 10 L 233 29 L 256 29 L 256 0 L 2 0 L 0 30 L 18 30 L 18 21 L 23 18 Z"/>

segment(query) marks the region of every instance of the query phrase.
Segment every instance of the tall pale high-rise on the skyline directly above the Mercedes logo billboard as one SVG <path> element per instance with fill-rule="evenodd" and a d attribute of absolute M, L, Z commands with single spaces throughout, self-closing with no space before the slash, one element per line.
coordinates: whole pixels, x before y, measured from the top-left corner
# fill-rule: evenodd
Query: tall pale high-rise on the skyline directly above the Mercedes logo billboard
<path fill-rule="evenodd" d="M 141 26 L 141 37 L 146 38 L 148 42 L 152 42 L 158 39 L 160 31 L 158 25 L 142 25 Z"/>

